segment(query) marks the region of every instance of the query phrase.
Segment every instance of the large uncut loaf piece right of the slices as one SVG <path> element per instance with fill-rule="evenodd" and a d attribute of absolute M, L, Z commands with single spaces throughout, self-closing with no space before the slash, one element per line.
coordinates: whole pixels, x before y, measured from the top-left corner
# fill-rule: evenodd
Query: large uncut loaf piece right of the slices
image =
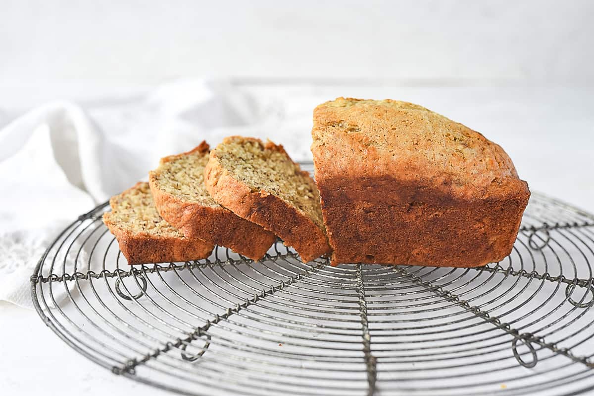
<path fill-rule="evenodd" d="M 333 264 L 510 254 L 530 191 L 481 133 L 412 103 L 337 98 L 315 108 L 312 138 Z"/>

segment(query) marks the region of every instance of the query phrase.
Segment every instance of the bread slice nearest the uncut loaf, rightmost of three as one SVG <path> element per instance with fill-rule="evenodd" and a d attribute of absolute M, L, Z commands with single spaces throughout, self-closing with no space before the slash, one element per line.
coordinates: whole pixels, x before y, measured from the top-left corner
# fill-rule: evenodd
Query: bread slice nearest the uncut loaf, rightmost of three
<path fill-rule="evenodd" d="M 210 152 L 204 175 L 216 202 L 278 235 L 302 260 L 330 252 L 315 183 L 282 146 L 231 136 Z"/>

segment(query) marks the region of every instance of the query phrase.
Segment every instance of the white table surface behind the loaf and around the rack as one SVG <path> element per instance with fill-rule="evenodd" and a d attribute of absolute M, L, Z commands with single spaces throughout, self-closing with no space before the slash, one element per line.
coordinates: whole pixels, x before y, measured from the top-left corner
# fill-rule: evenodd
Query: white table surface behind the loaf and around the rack
<path fill-rule="evenodd" d="M 274 91 L 271 87 L 249 89 L 258 95 L 271 95 Z M 423 104 L 500 143 L 531 189 L 594 212 L 594 88 L 327 86 L 308 89 L 307 94 L 320 101 L 349 95 L 392 97 Z M 21 95 L 23 101 L 23 91 Z M 83 103 L 89 99 L 75 95 L 72 98 Z M 2 95 L 0 110 L 3 104 L 10 106 L 9 102 Z M 11 103 L 18 103 L 18 98 Z M 17 110 L 8 108 L 5 114 L 15 114 Z M 307 122 L 294 127 L 307 128 Z M 307 135 L 305 130 L 304 136 Z M 36 312 L 5 302 L 0 302 L 0 340 L 0 394 L 3 395 L 164 393 L 91 363 L 46 328 Z"/>

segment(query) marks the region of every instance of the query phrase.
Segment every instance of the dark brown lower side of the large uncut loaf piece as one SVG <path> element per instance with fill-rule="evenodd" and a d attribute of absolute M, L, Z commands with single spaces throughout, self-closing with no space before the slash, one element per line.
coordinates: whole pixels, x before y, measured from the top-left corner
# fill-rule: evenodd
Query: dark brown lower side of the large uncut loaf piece
<path fill-rule="evenodd" d="M 511 253 L 530 193 L 455 199 L 394 180 L 323 181 L 332 263 L 476 267 Z"/>

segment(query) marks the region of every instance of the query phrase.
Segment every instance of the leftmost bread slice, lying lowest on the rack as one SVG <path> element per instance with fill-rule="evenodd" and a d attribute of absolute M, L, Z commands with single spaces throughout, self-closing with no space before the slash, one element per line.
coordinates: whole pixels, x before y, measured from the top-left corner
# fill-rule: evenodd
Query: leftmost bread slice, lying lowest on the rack
<path fill-rule="evenodd" d="M 109 200 L 112 211 L 103 222 L 118 239 L 128 264 L 200 260 L 210 256 L 213 244 L 184 237 L 157 213 L 149 183 L 137 183 Z"/>

